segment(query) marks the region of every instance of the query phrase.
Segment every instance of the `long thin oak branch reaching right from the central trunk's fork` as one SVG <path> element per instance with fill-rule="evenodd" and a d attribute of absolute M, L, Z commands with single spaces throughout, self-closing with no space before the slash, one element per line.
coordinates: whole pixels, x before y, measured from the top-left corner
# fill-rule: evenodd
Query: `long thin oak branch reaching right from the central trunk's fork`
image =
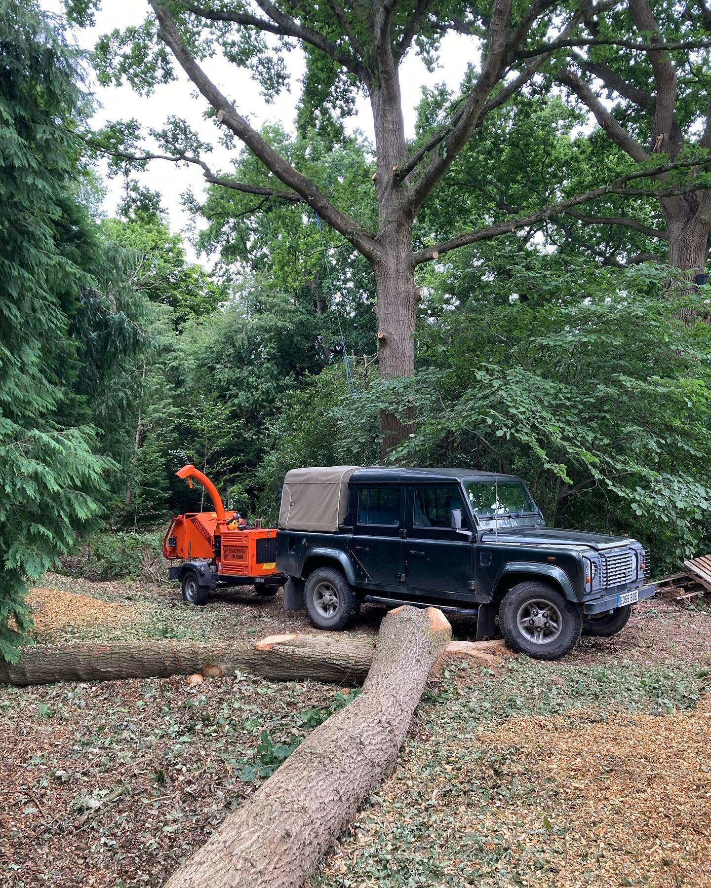
<path fill-rule="evenodd" d="M 703 165 L 705 163 L 708 163 L 707 157 L 697 157 L 691 158 L 686 161 L 666 163 L 662 166 L 656 167 L 654 170 L 632 170 L 631 172 L 626 173 L 624 176 L 616 178 L 608 185 L 593 188 L 592 190 L 587 191 L 584 194 L 576 194 L 575 196 L 569 197 L 564 201 L 550 203 L 546 207 L 542 207 L 540 210 L 536 210 L 535 212 L 528 213 L 524 216 L 509 218 L 503 222 L 498 222 L 495 225 L 485 226 L 483 228 L 477 228 L 475 231 L 469 231 L 465 232 L 464 234 L 459 234 L 457 237 L 453 237 L 449 241 L 444 241 L 442 243 L 436 244 L 434 247 L 427 247 L 426 250 L 419 250 L 418 252 L 412 253 L 412 265 L 418 266 L 421 265 L 423 262 L 430 262 L 431 260 L 443 255 L 443 253 L 447 253 L 450 250 L 457 250 L 459 247 L 465 247 L 471 243 L 491 240 L 491 238 L 499 237 L 499 235 L 501 234 L 511 234 L 520 228 L 528 228 L 530 226 L 538 225 L 540 222 L 545 222 L 547 219 L 554 218 L 555 216 L 561 215 L 561 213 L 568 212 L 568 210 L 571 210 L 573 207 L 579 206 L 579 204 L 581 203 L 595 201 L 600 197 L 604 197 L 605 194 L 622 194 L 623 196 L 627 197 L 659 198 L 673 197 L 681 194 L 691 194 L 691 192 L 694 191 L 707 189 L 707 182 L 691 182 L 686 185 L 669 186 L 662 189 L 633 188 L 627 186 L 627 182 L 634 181 L 635 179 L 651 178 L 652 176 L 658 176 L 660 174 L 671 172 L 673 170 L 691 168 Z"/>

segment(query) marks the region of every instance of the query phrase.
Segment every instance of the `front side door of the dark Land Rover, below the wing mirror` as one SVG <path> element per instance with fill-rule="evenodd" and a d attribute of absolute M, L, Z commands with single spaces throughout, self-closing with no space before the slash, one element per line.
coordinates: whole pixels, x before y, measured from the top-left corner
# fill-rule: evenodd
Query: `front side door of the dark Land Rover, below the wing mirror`
<path fill-rule="evenodd" d="M 461 510 L 462 529 L 473 530 L 459 485 L 410 488 L 403 545 L 408 590 L 444 598 L 473 598 L 474 545 L 467 535 L 451 529 L 453 509 Z"/>

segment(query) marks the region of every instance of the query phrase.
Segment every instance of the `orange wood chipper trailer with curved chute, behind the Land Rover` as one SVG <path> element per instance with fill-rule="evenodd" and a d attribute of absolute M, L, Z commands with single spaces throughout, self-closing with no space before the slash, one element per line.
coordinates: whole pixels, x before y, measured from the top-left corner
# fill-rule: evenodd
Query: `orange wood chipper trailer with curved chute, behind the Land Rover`
<path fill-rule="evenodd" d="M 287 580 L 276 570 L 276 529 L 248 527 L 236 511 L 226 510 L 212 481 L 194 465 L 175 474 L 199 481 L 214 511 L 193 511 L 172 519 L 163 541 L 166 559 L 180 559 L 170 578 L 180 580 L 183 598 L 204 605 L 217 586 L 254 586 L 258 595 L 276 595 Z M 258 520 L 258 524 L 260 521 Z"/>

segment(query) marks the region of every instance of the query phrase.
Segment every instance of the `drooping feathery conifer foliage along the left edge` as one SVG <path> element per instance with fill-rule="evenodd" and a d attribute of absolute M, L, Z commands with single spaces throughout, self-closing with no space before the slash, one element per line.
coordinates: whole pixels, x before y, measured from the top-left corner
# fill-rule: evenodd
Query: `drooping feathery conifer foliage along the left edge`
<path fill-rule="evenodd" d="M 36 4 L 0 13 L 0 656 L 12 660 L 29 625 L 26 580 L 91 526 L 111 463 L 72 387 L 70 325 L 96 286 L 78 256 L 89 223 L 68 134 L 84 107 L 77 59 Z"/>

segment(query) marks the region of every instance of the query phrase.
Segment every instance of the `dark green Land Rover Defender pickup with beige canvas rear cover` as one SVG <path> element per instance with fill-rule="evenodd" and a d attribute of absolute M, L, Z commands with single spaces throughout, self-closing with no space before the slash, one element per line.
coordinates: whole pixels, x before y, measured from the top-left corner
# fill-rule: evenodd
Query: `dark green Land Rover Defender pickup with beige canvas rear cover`
<path fill-rule="evenodd" d="M 361 602 L 495 617 L 507 645 L 543 660 L 580 633 L 609 636 L 650 598 L 636 540 L 546 527 L 523 480 L 467 469 L 294 469 L 284 479 L 276 567 L 284 607 L 343 629 Z"/>

